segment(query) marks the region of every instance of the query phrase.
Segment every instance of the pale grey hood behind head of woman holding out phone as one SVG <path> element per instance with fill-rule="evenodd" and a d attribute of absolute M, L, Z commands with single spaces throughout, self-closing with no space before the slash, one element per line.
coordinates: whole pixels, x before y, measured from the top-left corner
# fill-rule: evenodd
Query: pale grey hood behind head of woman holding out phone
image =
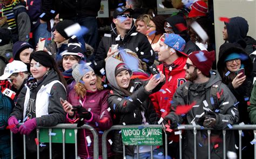
<path fill-rule="evenodd" d="M 106 77 L 112 87 L 120 89 L 117 84 L 116 75 L 114 71 L 116 70 L 117 65 L 124 63 L 123 61 L 117 60 L 115 58 L 108 58 L 106 60 Z"/>

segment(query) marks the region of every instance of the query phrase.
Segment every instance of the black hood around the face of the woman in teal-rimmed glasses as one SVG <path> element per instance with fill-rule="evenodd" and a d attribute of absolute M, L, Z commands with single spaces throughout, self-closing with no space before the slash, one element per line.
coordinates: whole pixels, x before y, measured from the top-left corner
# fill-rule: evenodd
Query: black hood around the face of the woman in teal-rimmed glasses
<path fill-rule="evenodd" d="M 251 58 L 248 56 L 248 54 L 245 52 L 244 49 L 239 47 L 239 44 L 233 44 L 233 43 L 224 43 L 220 46 L 219 50 L 219 60 L 217 63 L 217 70 L 220 74 L 223 74 L 224 68 L 226 67 L 225 59 L 226 57 L 235 52 L 240 53 L 242 55 L 241 64 L 244 64 L 245 68 L 245 74 L 249 75 L 252 72 L 253 63 Z"/>

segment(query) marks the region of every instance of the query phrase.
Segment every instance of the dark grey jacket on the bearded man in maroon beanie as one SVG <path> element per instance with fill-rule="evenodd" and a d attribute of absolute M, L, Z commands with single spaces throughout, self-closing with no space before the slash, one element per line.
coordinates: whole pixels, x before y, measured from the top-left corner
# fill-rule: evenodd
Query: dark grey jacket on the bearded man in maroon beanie
<path fill-rule="evenodd" d="M 203 84 L 192 83 L 191 81 L 185 82 L 185 84 L 179 86 L 176 92 L 173 95 L 173 104 L 172 110 L 169 115 L 166 116 L 166 119 L 171 120 L 172 125 L 177 123 L 183 123 L 191 125 L 192 121 L 195 119 L 196 115 L 201 115 L 203 112 L 207 113 L 204 100 L 208 103 L 207 108 L 211 109 L 215 114 L 216 123 L 213 126 L 214 130 L 211 130 L 211 158 L 223 158 L 223 129 L 228 128 L 227 125 L 234 125 L 238 122 L 239 114 L 238 110 L 234 107 L 234 104 L 237 102 L 234 95 L 228 89 L 228 87 L 221 83 L 218 86 L 218 91 L 223 90 L 223 94 L 220 96 L 218 105 L 211 104 L 211 87 L 215 86 L 215 83 L 221 81 L 220 75 L 215 72 L 211 74 L 210 80 Z M 188 83 L 188 84 L 187 84 Z M 185 94 L 187 92 L 187 95 Z M 193 107 L 188 111 L 188 113 L 182 117 L 175 113 L 177 106 L 191 105 L 193 102 L 194 105 L 199 105 L 198 107 Z M 224 103 L 228 102 L 228 103 Z M 218 110 L 218 111 L 217 111 Z M 218 112 L 218 113 L 217 113 Z M 228 120 L 224 122 L 223 120 Z M 198 125 L 198 120 L 195 119 L 194 122 Z M 194 155 L 194 134 L 193 130 L 186 130 L 185 135 L 183 135 L 183 158 L 191 158 Z M 197 131 L 197 156 L 200 158 L 208 158 L 208 142 L 207 142 L 207 130 Z M 216 140 L 219 139 L 219 140 Z M 226 132 L 226 152 L 235 151 L 234 143 L 234 133 L 233 131 Z M 218 146 L 216 146 L 218 144 Z"/>

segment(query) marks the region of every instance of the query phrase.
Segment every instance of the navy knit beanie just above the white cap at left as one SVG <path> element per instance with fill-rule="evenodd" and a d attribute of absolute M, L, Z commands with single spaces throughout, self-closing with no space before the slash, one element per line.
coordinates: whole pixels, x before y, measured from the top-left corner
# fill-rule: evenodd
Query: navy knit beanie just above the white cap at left
<path fill-rule="evenodd" d="M 14 43 L 14 47 L 12 48 L 12 56 L 14 57 L 15 60 L 20 60 L 19 53 L 21 53 L 25 49 L 30 49 L 30 48 L 31 48 L 31 51 L 33 51 L 32 45 L 30 45 L 27 42 L 18 41 Z"/>

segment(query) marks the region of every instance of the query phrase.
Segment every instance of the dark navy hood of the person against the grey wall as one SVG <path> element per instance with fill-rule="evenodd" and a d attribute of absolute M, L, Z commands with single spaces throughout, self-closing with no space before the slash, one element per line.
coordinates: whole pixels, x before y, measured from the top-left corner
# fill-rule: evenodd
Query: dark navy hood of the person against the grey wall
<path fill-rule="evenodd" d="M 227 27 L 228 42 L 234 43 L 239 39 L 244 39 L 249 30 L 249 25 L 245 18 L 233 17 L 229 23 L 225 23 Z"/>

